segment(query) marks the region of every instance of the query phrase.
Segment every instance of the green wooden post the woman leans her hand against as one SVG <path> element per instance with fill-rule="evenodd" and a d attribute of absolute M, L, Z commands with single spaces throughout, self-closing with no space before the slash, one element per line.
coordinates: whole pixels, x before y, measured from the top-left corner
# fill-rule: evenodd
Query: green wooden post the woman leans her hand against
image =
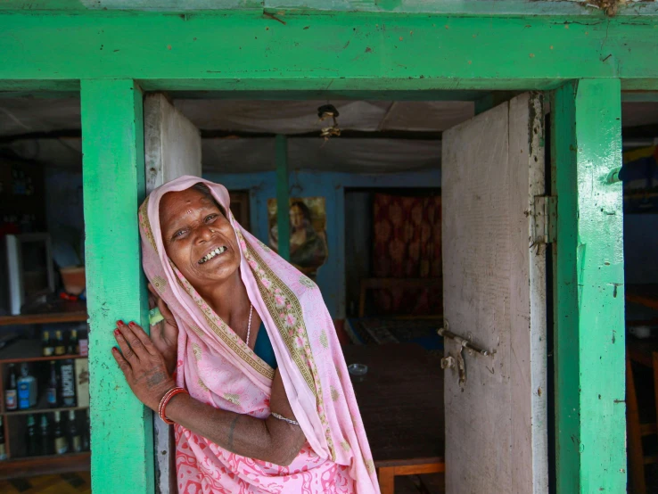
<path fill-rule="evenodd" d="M 94 494 L 153 491 L 152 412 L 119 371 L 116 321 L 148 327 L 137 207 L 144 199 L 142 92 L 132 80 L 80 87 Z M 123 487 L 121 487 L 123 486 Z"/>

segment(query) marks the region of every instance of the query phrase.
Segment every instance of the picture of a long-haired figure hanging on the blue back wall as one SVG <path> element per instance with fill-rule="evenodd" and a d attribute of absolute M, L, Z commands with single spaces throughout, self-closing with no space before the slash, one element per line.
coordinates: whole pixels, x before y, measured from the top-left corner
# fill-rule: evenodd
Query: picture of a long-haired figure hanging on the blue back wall
<path fill-rule="evenodd" d="M 329 255 L 326 242 L 326 207 L 324 197 L 290 199 L 290 261 L 311 279 Z M 269 244 L 278 251 L 276 199 L 267 200 Z"/>

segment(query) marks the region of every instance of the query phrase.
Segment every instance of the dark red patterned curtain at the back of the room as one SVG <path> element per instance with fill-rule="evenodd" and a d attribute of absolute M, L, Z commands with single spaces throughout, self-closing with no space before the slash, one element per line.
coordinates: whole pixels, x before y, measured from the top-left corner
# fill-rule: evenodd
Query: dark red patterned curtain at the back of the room
<path fill-rule="evenodd" d="M 441 198 L 374 195 L 373 271 L 377 278 L 440 278 Z M 379 314 L 443 312 L 440 288 L 375 290 Z"/>

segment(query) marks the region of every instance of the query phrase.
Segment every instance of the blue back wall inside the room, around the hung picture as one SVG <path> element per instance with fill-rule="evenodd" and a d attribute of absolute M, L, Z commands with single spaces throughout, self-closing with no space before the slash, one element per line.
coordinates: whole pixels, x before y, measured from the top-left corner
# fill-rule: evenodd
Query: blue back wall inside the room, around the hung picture
<path fill-rule="evenodd" d="M 204 178 L 225 185 L 228 190 L 249 190 L 251 233 L 267 243 L 267 199 L 276 198 L 276 173 L 216 174 Z M 359 175 L 351 173 L 296 171 L 289 177 L 291 197 L 326 198 L 326 235 L 329 259 L 317 272 L 317 284 L 332 317 L 345 317 L 345 210 L 346 188 L 439 188 L 440 170 Z"/>

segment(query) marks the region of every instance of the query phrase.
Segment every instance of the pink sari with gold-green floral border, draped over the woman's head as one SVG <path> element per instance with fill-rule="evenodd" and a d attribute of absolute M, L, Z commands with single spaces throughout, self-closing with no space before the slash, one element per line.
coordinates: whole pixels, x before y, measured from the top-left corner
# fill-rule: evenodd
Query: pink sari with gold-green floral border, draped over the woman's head
<path fill-rule="evenodd" d="M 274 369 L 210 309 L 162 243 L 161 197 L 200 182 L 229 211 L 226 188 L 202 178 L 180 177 L 154 190 L 139 210 L 144 271 L 178 323 L 177 384 L 212 407 L 265 418 Z M 350 375 L 317 285 L 228 216 L 242 251 L 243 283 L 272 342 L 307 443 L 284 467 L 241 457 L 176 425 L 178 491 L 379 492 Z"/>

